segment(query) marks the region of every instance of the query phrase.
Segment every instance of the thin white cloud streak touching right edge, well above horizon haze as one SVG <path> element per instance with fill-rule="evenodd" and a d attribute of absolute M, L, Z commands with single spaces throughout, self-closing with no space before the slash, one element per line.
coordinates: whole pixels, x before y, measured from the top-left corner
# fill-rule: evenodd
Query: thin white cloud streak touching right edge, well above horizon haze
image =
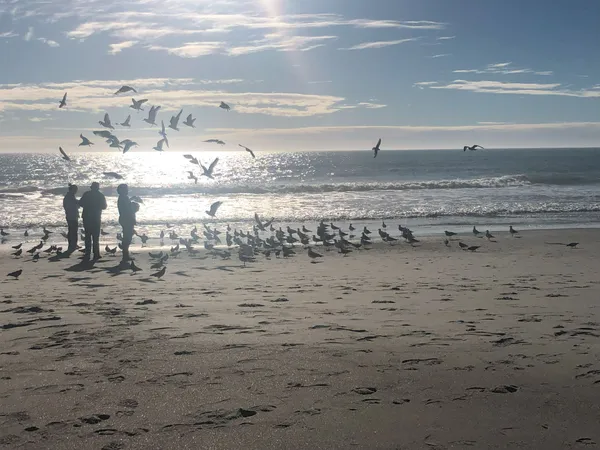
<path fill-rule="evenodd" d="M 575 91 L 566 89 L 559 83 L 505 83 L 500 81 L 454 80 L 448 84 L 427 81 L 415 83 L 414 86 L 419 88 L 449 89 L 486 94 L 553 95 L 579 98 L 600 98 L 600 92 L 593 88 Z"/>

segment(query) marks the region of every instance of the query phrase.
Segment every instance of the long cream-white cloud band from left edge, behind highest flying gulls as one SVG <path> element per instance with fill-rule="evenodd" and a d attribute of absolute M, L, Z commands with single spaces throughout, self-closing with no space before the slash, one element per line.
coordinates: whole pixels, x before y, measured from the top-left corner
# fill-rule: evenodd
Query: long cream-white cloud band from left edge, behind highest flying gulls
<path fill-rule="evenodd" d="M 215 108 L 221 101 L 229 103 L 236 113 L 264 114 L 279 117 L 311 117 L 333 114 L 349 108 L 382 108 L 373 102 L 344 104 L 343 97 L 287 92 L 228 92 L 206 90 L 206 84 L 228 85 L 242 80 L 137 79 L 92 80 L 71 83 L 0 85 L 0 111 L 56 111 L 63 93 L 69 93 L 67 111 L 97 114 L 111 108 L 127 108 L 129 97 L 114 96 L 117 86 L 134 86 L 138 98 L 149 98 L 162 111 L 182 107 Z"/>

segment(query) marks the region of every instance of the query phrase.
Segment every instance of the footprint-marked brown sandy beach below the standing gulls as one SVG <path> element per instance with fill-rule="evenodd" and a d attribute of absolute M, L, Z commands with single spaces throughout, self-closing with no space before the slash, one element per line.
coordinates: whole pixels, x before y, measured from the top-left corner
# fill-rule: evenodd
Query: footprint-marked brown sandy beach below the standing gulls
<path fill-rule="evenodd" d="M 0 447 L 598 448 L 600 230 L 522 234 L 160 281 L 5 244 Z"/>

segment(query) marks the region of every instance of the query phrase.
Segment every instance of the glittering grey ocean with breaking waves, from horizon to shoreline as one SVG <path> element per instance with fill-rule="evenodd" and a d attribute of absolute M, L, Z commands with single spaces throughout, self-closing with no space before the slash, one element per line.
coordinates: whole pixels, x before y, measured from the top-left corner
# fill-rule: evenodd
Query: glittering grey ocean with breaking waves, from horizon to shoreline
<path fill-rule="evenodd" d="M 104 227 L 118 227 L 116 186 L 144 204 L 138 231 L 157 235 L 168 223 L 186 230 L 215 222 L 205 210 L 220 200 L 216 222 L 250 229 L 258 212 L 277 224 L 385 220 L 416 235 L 444 229 L 595 227 L 600 223 L 600 149 L 528 149 L 260 153 L 189 152 L 215 179 L 200 177 L 183 153 L 0 154 L 0 226 L 32 236 L 64 227 L 69 182 L 81 195 L 99 181 L 107 195 Z M 192 170 L 198 184 L 187 178 Z M 103 172 L 117 172 L 123 181 Z M 208 220 L 210 219 L 210 220 Z M 389 231 L 389 228 L 388 228 Z M 22 234 L 20 234 L 22 236 Z"/>

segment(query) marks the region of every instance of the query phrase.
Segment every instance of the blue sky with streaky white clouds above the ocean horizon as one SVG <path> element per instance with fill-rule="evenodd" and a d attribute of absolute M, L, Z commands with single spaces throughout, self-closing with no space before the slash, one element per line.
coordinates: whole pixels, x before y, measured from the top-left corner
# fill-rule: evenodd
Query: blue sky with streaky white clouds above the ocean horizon
<path fill-rule="evenodd" d="M 92 134 L 105 113 L 152 151 L 152 105 L 167 125 L 183 109 L 176 151 L 600 147 L 599 17 L 596 0 L 0 0 L 0 152 L 114 152 Z"/>

